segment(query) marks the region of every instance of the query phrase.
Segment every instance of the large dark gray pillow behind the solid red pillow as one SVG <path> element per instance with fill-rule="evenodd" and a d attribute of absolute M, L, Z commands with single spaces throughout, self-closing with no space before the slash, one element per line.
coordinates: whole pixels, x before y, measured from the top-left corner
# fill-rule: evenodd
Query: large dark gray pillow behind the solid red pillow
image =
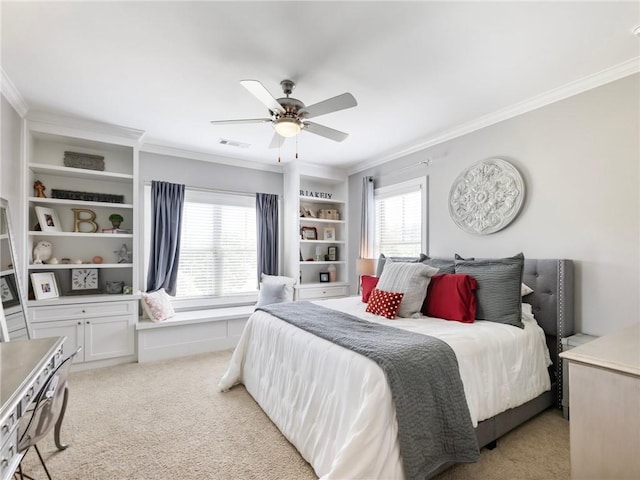
<path fill-rule="evenodd" d="M 467 259 L 456 255 L 456 273 L 471 275 L 478 282 L 476 320 L 505 323 L 524 328 L 520 288 L 524 255 L 508 258 Z"/>

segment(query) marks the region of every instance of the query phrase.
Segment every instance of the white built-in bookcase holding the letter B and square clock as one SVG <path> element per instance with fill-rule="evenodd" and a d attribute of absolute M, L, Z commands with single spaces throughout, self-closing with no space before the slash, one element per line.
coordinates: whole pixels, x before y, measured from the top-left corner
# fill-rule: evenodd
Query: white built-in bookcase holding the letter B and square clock
<path fill-rule="evenodd" d="M 82 347 L 75 363 L 134 355 L 138 139 L 27 125 L 22 264 L 33 335 L 66 336 L 65 355 Z"/>

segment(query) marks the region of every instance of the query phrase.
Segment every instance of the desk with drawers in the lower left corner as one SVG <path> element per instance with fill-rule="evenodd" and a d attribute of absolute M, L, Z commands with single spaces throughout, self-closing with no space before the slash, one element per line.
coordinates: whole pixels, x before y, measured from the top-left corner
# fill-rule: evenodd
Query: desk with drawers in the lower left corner
<path fill-rule="evenodd" d="M 62 358 L 65 337 L 0 343 L 0 479 L 11 478 L 22 454 L 18 424 Z"/>

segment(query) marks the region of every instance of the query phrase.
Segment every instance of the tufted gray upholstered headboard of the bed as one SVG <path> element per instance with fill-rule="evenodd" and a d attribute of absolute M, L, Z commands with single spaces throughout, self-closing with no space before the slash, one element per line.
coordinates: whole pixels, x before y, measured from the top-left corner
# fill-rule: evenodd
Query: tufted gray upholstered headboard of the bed
<path fill-rule="evenodd" d="M 558 405 L 562 394 L 562 365 L 558 354 L 562 339 L 573 335 L 573 261 L 557 259 L 525 259 L 523 282 L 533 293 L 522 301 L 532 306 L 533 314 L 547 337 L 553 373 L 558 386 Z"/>

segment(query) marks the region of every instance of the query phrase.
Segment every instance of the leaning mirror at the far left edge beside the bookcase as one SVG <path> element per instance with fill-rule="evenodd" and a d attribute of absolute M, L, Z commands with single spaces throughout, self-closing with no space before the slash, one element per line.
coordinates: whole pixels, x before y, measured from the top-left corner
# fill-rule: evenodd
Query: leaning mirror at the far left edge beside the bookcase
<path fill-rule="evenodd" d="M 31 331 L 24 310 L 23 290 L 20 288 L 19 275 L 16 274 L 16 251 L 9 202 L 0 198 L 0 296 L 2 297 L 2 315 L 0 315 L 0 340 L 27 340 Z"/>

